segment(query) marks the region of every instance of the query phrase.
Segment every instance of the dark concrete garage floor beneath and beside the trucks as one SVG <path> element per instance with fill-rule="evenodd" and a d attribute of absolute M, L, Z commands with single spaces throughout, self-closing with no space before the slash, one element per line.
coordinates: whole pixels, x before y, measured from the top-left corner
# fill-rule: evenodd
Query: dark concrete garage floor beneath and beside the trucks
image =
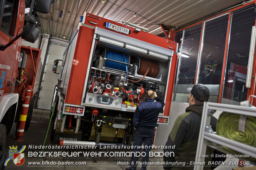
<path fill-rule="evenodd" d="M 22 148 L 22 145 L 26 145 L 26 149 L 22 152 L 25 153 L 25 163 L 21 166 L 16 166 L 13 163 L 13 160 L 10 160 L 5 167 L 6 170 L 21 170 L 21 169 L 39 169 L 39 170 L 48 170 L 48 169 L 53 169 L 53 170 L 75 170 L 75 169 L 94 169 L 94 170 L 105 170 L 105 169 L 111 169 L 111 170 L 125 170 L 125 168 L 129 168 L 129 165 L 124 165 L 124 166 L 119 166 L 117 165 L 117 161 L 128 161 L 130 162 L 131 158 L 130 157 L 84 157 L 83 155 L 80 155 L 80 157 L 28 157 L 28 152 L 39 152 L 42 151 L 42 149 L 28 149 L 28 145 L 43 145 L 44 144 L 44 139 L 45 135 L 47 132 L 47 128 L 49 125 L 49 117 L 50 117 L 50 111 L 48 110 L 42 110 L 42 109 L 34 109 L 33 111 L 33 116 L 32 116 L 32 121 L 30 125 L 30 129 L 28 131 L 24 132 L 23 139 L 25 139 L 24 142 L 14 142 L 13 135 L 8 135 L 7 139 L 7 149 L 9 149 L 9 146 L 15 145 L 18 146 L 18 150 Z M 51 127 L 50 127 L 51 129 Z M 45 142 L 45 145 L 55 145 L 52 144 L 50 141 L 50 130 L 49 134 L 47 135 L 47 139 Z M 46 151 L 46 150 L 44 150 Z M 64 150 L 64 149 L 51 149 L 47 151 L 69 151 L 70 150 Z M 114 151 L 114 150 L 106 150 L 106 149 L 96 149 L 96 150 L 71 150 L 71 151 Z M 115 151 L 121 151 L 121 150 L 115 150 Z M 125 151 L 125 150 L 122 150 Z M 130 150 L 132 151 L 132 150 Z M 154 151 L 154 150 L 152 150 Z M 159 151 L 159 150 L 157 150 Z M 8 151 L 7 151 L 8 153 Z M 85 166 L 29 166 L 28 162 L 30 161 L 86 161 Z M 141 158 L 139 158 L 141 161 Z M 149 162 L 162 162 L 162 157 L 150 157 Z M 137 169 L 141 169 L 141 166 L 138 166 Z M 162 170 L 162 166 L 148 166 L 147 170 Z"/>

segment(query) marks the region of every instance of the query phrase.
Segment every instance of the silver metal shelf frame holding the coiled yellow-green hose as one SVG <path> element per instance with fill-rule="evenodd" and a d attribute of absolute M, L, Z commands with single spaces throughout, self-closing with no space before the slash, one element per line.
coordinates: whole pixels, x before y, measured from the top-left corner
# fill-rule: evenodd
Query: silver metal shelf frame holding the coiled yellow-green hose
<path fill-rule="evenodd" d="M 256 147 L 246 145 L 234 140 L 230 140 L 228 138 L 219 136 L 217 134 L 206 132 L 207 131 L 206 127 L 207 126 L 209 127 L 211 116 L 214 114 L 215 111 L 230 112 L 234 114 L 256 117 L 256 109 L 251 107 L 204 102 L 195 162 L 197 161 L 204 162 L 204 157 L 199 157 L 199 154 L 205 155 L 207 146 L 212 147 L 214 149 L 218 149 L 224 153 L 229 153 L 229 154 L 231 153 L 228 150 L 221 147 L 220 145 L 233 149 L 236 152 L 240 152 L 246 155 L 250 155 L 250 157 L 256 158 Z M 231 153 L 231 154 L 235 155 L 235 153 Z M 247 158 L 242 158 L 242 159 L 247 159 Z M 194 167 L 194 170 L 202 170 L 202 169 L 203 169 L 202 166 Z"/>

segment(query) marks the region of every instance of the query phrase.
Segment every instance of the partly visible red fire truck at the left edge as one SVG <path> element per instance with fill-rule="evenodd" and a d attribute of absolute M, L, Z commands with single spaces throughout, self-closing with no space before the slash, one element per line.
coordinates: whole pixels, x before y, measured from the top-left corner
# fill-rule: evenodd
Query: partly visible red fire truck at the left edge
<path fill-rule="evenodd" d="M 22 46 L 22 39 L 32 43 L 37 40 L 40 34 L 36 28 L 37 11 L 49 12 L 51 3 L 52 0 L 0 1 L 0 169 L 6 159 L 7 135 L 15 132 L 17 121 L 21 119 L 27 118 L 25 129 L 28 129 L 32 96 L 37 91 L 35 86 L 32 96 L 25 96 L 25 91 L 33 91 L 41 50 Z M 25 7 L 31 7 L 28 14 L 25 14 Z M 23 106 L 30 114 L 20 117 L 23 101 L 31 98 L 29 106 Z"/>

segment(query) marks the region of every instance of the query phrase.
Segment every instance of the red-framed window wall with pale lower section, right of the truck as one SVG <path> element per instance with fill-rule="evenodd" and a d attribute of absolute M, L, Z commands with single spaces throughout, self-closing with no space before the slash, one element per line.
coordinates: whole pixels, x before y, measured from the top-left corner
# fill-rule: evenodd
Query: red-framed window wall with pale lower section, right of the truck
<path fill-rule="evenodd" d="M 228 14 L 209 21 L 206 20 L 204 38 L 201 34 L 203 23 L 176 32 L 175 41 L 179 43 L 179 53 L 181 53 L 179 59 L 181 61 L 178 60 L 177 62 L 169 122 L 168 125 L 160 124 L 157 127 L 155 144 L 166 144 L 175 120 L 189 106 L 189 91 L 186 89 L 193 87 L 196 81 L 198 57 L 201 58 L 201 66 L 198 66 L 198 83 L 209 88 L 211 94 L 209 102 L 238 105 L 240 101 L 246 100 L 247 89 L 244 87 L 245 80 L 241 76 L 246 73 L 242 73 L 241 68 L 247 69 L 251 29 L 255 25 L 255 8 L 255 4 L 252 3 L 232 11 L 229 34 L 227 31 Z M 200 42 L 201 38 L 202 41 Z M 203 44 L 202 51 L 199 49 L 201 43 Z M 224 53 L 225 46 L 227 46 L 226 54 Z M 224 61 L 225 55 L 227 59 Z M 226 63 L 224 73 L 222 73 L 223 63 Z M 238 64 L 240 72 L 237 68 L 232 67 L 232 63 Z M 217 65 L 215 65 L 216 70 L 213 74 L 214 64 Z M 238 74 L 240 76 L 237 77 L 231 77 L 233 78 L 231 79 L 230 73 L 234 72 L 241 74 Z M 222 85 L 220 80 L 223 77 L 223 92 L 219 94 Z M 236 81 L 237 79 L 239 81 Z M 236 83 L 234 83 L 235 81 Z M 221 95 L 221 101 L 219 101 L 219 95 Z"/>

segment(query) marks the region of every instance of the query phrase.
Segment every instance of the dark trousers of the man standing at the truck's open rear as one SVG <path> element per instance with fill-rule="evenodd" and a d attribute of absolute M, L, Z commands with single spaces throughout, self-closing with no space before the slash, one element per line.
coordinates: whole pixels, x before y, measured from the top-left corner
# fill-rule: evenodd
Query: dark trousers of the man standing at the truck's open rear
<path fill-rule="evenodd" d="M 153 138 L 154 138 L 154 127 L 139 126 L 135 132 L 134 140 L 133 140 L 133 145 L 135 148 L 133 151 L 135 153 L 140 152 L 141 149 L 137 148 L 136 146 L 141 146 L 142 142 L 145 147 L 143 149 L 143 152 L 146 153 L 146 156 L 142 158 L 142 166 L 141 166 L 142 170 L 146 170 L 147 168 L 147 162 L 149 161 L 149 151 L 151 150 L 151 147 L 152 147 Z M 129 169 L 136 170 L 138 159 L 139 157 L 136 157 L 135 154 L 132 154 Z"/>

